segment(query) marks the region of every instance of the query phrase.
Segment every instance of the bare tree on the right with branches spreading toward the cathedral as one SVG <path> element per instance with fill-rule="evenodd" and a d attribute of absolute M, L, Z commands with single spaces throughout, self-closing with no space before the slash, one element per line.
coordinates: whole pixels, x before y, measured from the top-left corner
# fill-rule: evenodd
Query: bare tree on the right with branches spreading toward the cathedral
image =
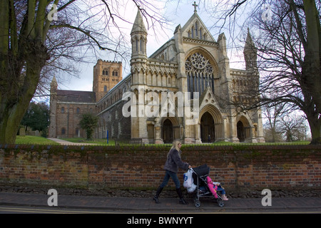
<path fill-rule="evenodd" d="M 233 31 L 235 26 L 251 28 L 255 43 L 253 50 L 258 53 L 258 71 L 261 75 L 258 93 L 247 95 L 250 96 L 247 100 L 252 103 L 234 105 L 248 110 L 260 105 L 273 105 L 272 102 L 287 103 L 290 110 L 305 113 L 310 125 L 311 143 L 320 144 L 320 1 L 238 0 L 227 5 L 220 18 L 225 19 Z M 269 16 L 265 15 L 267 9 L 263 6 L 268 6 Z M 218 7 L 214 9 L 218 10 Z M 236 20 L 241 17 L 240 12 L 249 14 L 243 20 Z"/>

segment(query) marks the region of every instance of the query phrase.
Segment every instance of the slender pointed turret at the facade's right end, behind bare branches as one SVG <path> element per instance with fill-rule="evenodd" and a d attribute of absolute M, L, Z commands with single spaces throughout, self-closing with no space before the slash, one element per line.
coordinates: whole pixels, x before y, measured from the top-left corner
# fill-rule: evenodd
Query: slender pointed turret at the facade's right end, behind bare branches
<path fill-rule="evenodd" d="M 247 71 L 256 71 L 258 69 L 258 53 L 255 48 L 255 44 L 252 40 L 252 36 L 250 34 L 250 29 L 248 28 L 248 36 L 246 37 L 245 46 L 243 50 L 244 58 L 245 58 L 245 69 Z"/>

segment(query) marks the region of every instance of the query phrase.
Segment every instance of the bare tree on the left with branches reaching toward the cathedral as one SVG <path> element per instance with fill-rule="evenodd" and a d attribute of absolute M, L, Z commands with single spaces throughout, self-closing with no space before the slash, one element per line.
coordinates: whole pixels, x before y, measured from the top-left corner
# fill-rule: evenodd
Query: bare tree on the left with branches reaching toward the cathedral
<path fill-rule="evenodd" d="M 144 0 L 0 1 L 1 144 L 15 142 L 30 100 L 53 68 L 72 72 L 70 61 L 81 61 L 89 49 L 126 55 L 121 24 L 129 21 L 120 6 L 129 2 L 149 28 L 165 23 L 160 10 Z"/>

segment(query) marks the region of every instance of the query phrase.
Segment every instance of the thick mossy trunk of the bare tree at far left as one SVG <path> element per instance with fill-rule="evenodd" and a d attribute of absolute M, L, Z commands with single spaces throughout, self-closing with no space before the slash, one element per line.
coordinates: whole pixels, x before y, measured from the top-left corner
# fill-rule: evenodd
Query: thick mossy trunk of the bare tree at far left
<path fill-rule="evenodd" d="M 43 29 L 47 4 L 27 1 L 26 14 L 17 26 L 14 0 L 0 1 L 0 144 L 16 141 L 48 59 Z"/>

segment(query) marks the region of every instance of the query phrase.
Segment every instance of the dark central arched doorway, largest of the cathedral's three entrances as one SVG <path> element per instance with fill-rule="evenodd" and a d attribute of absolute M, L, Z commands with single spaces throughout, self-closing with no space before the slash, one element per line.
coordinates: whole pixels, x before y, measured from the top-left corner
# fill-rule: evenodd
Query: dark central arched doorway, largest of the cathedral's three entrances
<path fill-rule="evenodd" d="M 202 142 L 215 142 L 215 124 L 212 115 L 206 112 L 200 118 L 200 138 Z"/>

